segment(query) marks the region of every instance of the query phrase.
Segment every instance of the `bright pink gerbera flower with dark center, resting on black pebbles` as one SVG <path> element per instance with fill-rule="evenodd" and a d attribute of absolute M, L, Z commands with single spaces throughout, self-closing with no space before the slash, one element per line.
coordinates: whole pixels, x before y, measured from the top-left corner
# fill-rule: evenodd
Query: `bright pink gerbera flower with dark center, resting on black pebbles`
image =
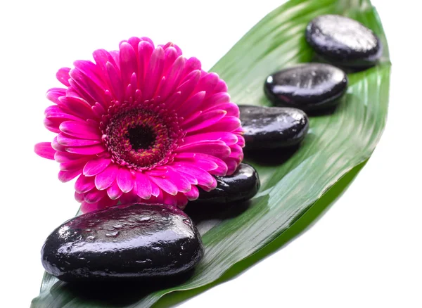
<path fill-rule="evenodd" d="M 239 110 L 225 82 L 178 46 L 146 37 L 62 68 L 44 124 L 58 135 L 35 152 L 60 163 L 82 211 L 127 202 L 184 207 L 243 159 Z"/>

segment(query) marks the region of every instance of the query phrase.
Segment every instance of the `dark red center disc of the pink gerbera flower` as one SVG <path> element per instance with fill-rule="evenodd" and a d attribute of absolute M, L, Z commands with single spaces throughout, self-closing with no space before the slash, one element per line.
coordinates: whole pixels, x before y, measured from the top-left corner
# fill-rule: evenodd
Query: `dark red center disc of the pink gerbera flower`
<path fill-rule="evenodd" d="M 182 136 L 177 115 L 158 108 L 119 110 L 103 129 L 103 142 L 113 161 L 133 169 L 172 162 Z"/>

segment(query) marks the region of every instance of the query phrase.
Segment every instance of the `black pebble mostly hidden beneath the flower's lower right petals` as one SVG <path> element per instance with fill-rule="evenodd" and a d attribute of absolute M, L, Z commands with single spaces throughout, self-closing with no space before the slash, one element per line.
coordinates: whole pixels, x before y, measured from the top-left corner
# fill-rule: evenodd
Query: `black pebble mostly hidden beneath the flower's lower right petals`
<path fill-rule="evenodd" d="M 260 189 L 260 177 L 248 164 L 239 165 L 238 169 L 226 177 L 216 177 L 217 188 L 212 191 L 200 189 L 195 203 L 231 203 L 249 200 Z"/>

